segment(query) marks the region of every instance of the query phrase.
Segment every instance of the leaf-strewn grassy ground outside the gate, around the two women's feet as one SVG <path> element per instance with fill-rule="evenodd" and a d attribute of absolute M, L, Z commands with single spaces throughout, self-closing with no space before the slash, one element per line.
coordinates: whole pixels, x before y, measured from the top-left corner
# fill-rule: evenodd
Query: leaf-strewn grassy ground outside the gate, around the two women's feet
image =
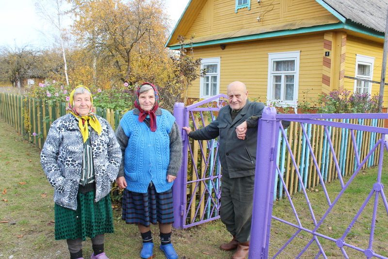
<path fill-rule="evenodd" d="M 44 175 L 40 150 L 0 119 L 0 259 L 69 258 L 65 241 L 54 240 L 53 189 Z M 114 231 L 106 235 L 105 251 L 111 259 L 139 259 L 141 239 L 137 227 L 126 225 L 113 210 Z M 159 231 L 152 227 L 157 258 Z M 226 259 L 220 243 L 229 234 L 220 221 L 174 230 L 172 241 L 180 259 Z M 90 240 L 83 244 L 84 258 L 92 253 Z"/>

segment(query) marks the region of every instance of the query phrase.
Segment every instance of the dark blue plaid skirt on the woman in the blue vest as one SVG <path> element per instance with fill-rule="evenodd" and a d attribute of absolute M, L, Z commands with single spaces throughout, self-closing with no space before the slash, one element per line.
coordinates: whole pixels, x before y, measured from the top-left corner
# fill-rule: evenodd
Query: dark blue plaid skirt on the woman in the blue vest
<path fill-rule="evenodd" d="M 148 186 L 145 194 L 124 189 L 122 219 L 127 224 L 148 227 L 151 224 L 174 223 L 174 205 L 172 190 L 157 193 L 155 186 Z"/>

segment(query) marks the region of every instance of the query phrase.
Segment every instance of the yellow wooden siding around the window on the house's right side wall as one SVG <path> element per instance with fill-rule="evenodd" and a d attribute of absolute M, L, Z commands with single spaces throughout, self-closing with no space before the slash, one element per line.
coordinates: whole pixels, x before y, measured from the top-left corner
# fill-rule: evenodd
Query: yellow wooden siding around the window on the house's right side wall
<path fill-rule="evenodd" d="M 381 64 L 383 58 L 383 44 L 367 41 L 351 35 L 346 40 L 345 75 L 354 77 L 356 73 L 356 54 L 374 57 L 373 81 L 380 81 Z M 346 90 L 354 91 L 354 80 L 344 79 Z M 372 96 L 379 93 L 380 85 L 372 83 Z M 384 103 L 388 102 L 388 93 L 385 91 Z M 386 105 L 385 105 L 386 106 Z"/>

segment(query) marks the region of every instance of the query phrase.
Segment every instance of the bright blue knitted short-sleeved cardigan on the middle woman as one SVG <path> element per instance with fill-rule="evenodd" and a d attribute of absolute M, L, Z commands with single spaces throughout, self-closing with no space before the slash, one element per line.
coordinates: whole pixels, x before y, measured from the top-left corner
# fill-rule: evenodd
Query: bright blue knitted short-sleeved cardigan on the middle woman
<path fill-rule="evenodd" d="M 127 189 L 136 193 L 146 193 L 149 183 L 155 185 L 158 193 L 171 189 L 173 182 L 167 181 L 170 162 L 169 133 L 175 117 L 162 109 L 156 116 L 157 130 L 151 131 L 133 111 L 126 113 L 120 125 L 129 138 L 124 155 L 124 172 Z"/>

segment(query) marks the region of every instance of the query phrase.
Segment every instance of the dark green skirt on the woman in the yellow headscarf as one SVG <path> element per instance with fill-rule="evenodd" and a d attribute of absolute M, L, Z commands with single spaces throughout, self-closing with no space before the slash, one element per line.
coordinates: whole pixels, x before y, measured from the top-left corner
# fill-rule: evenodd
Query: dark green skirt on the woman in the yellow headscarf
<path fill-rule="evenodd" d="M 77 194 L 77 210 L 55 204 L 55 240 L 94 238 L 113 233 L 111 197 L 94 202 L 95 191 Z"/>

